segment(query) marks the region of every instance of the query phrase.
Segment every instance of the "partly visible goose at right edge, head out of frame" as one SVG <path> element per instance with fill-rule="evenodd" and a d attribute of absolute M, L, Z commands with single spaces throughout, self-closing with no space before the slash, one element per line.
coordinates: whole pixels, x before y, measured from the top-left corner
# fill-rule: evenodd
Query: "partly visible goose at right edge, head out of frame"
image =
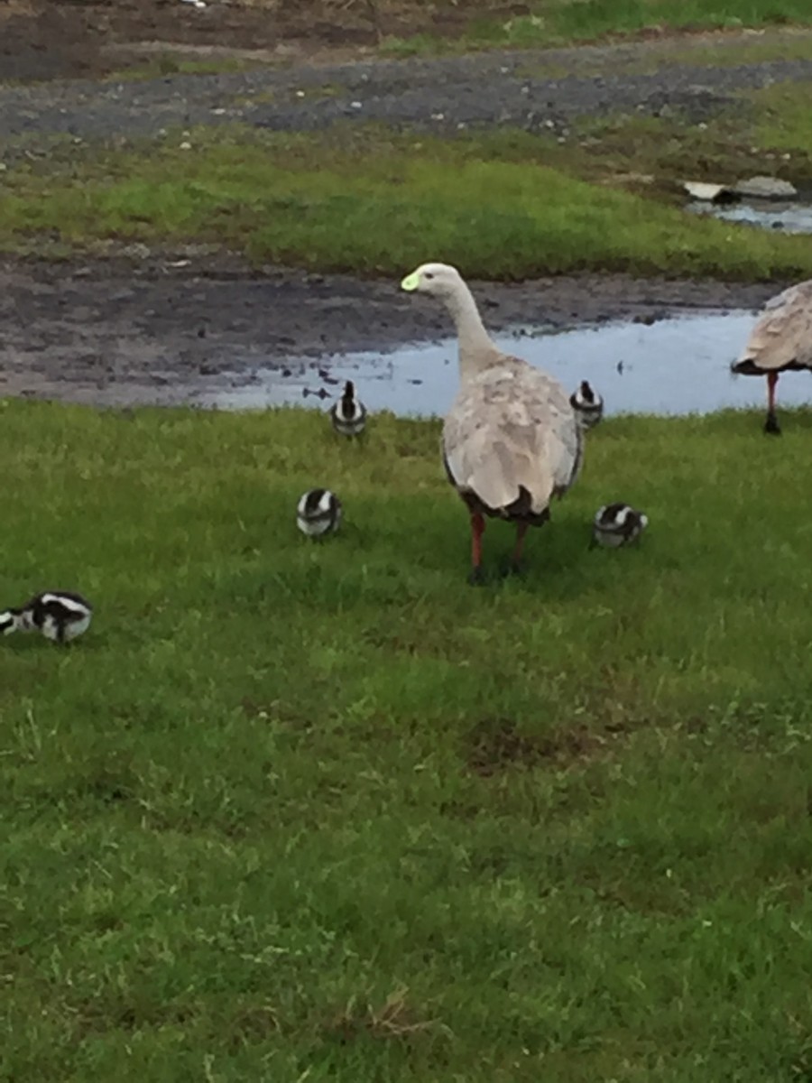
<path fill-rule="evenodd" d="M 799 283 L 764 305 L 742 356 L 731 366 L 744 376 L 767 377 L 764 432 L 781 433 L 775 384 L 781 373 L 812 369 L 812 280 Z"/>

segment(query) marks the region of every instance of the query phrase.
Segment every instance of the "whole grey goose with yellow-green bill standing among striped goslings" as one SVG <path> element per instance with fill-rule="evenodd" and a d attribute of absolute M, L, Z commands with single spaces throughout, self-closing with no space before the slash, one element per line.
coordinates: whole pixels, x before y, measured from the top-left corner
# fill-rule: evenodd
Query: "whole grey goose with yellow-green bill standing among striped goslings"
<path fill-rule="evenodd" d="M 484 517 L 516 524 L 518 570 L 527 527 L 550 518 L 550 500 L 578 475 L 582 423 L 558 380 L 497 349 L 456 268 L 423 263 L 401 287 L 440 298 L 457 325 L 460 386 L 443 426 L 443 460 L 471 516 L 470 582 L 482 583 Z"/>

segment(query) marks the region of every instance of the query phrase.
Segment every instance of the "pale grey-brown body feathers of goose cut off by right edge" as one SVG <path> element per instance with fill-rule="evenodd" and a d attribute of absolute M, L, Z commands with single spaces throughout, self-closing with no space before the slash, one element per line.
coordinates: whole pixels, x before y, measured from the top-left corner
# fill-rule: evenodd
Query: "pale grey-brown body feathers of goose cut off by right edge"
<path fill-rule="evenodd" d="M 812 280 L 767 302 L 739 360 L 751 360 L 765 371 L 793 362 L 812 367 Z"/>

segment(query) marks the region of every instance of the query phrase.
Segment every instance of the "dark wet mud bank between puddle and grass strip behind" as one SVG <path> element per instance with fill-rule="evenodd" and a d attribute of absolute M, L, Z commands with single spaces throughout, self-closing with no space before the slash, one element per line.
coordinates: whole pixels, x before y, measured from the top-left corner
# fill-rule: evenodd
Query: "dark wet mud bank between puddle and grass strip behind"
<path fill-rule="evenodd" d="M 183 265 L 176 265 L 178 263 Z M 404 269 L 409 270 L 409 269 Z M 754 309 L 776 284 L 550 277 L 472 283 L 490 328 Z M 393 350 L 449 334 L 396 283 L 249 271 L 236 259 L 0 263 L 0 394 L 104 405 L 195 401 L 293 357 Z"/>

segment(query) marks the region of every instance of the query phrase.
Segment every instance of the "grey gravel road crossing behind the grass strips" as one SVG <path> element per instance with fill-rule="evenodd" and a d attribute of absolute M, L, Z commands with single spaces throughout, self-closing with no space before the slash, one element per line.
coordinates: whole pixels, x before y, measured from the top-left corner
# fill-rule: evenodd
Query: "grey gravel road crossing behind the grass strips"
<path fill-rule="evenodd" d="M 730 48 L 730 44 L 720 49 Z M 673 64 L 655 75 L 578 75 L 612 61 L 633 63 L 645 45 L 438 60 L 367 61 L 174 75 L 129 82 L 90 80 L 0 88 L 0 136 L 80 139 L 155 135 L 173 126 L 245 122 L 312 131 L 337 120 L 384 121 L 447 132 L 511 125 L 564 130 L 575 117 L 665 107 L 699 121 L 742 90 L 812 79 L 812 61 L 731 67 Z M 558 78 L 534 69 L 571 70 Z"/>

